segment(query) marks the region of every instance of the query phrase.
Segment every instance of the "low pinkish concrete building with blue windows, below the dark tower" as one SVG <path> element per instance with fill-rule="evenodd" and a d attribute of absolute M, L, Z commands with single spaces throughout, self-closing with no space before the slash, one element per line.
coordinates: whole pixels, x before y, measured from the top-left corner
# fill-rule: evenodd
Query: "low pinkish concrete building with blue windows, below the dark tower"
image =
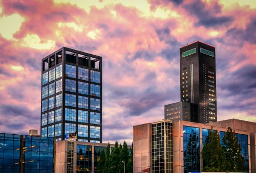
<path fill-rule="evenodd" d="M 153 133 L 154 124 L 156 123 L 172 123 L 172 138 L 167 138 L 167 134 L 163 131 L 163 140 L 172 141 L 169 150 L 170 161 L 166 161 L 166 151 L 168 151 L 165 141 L 163 145 L 163 156 L 153 157 L 154 145 L 161 145 L 161 142 L 153 143 L 153 134 L 161 136 L 162 131 L 158 130 Z M 227 131 L 227 127 L 231 127 L 236 132 L 238 142 L 242 147 L 242 155 L 245 159 L 245 166 L 250 173 L 256 173 L 255 170 L 255 135 L 256 123 L 238 119 L 230 119 L 212 123 L 196 123 L 189 121 L 168 121 L 162 120 L 154 123 L 146 123 L 143 125 L 134 126 L 134 172 L 150 167 L 151 172 L 190 172 L 202 171 L 203 160 L 201 152 L 205 138 L 212 128 L 217 130 L 222 139 L 223 134 Z M 161 129 L 162 130 L 162 129 Z M 146 132 L 146 133 L 143 133 Z M 161 136 L 162 137 L 162 136 Z M 141 144 L 141 142 L 146 144 Z M 191 143 L 194 143 L 191 145 Z M 158 147 L 159 148 L 159 147 Z M 157 152 L 161 153 L 162 150 Z M 173 153 L 173 154 L 172 154 Z M 154 164 L 163 165 L 161 170 L 154 170 Z M 141 160 L 144 160 L 141 161 Z M 171 165 L 173 169 L 168 170 L 166 165 Z"/>

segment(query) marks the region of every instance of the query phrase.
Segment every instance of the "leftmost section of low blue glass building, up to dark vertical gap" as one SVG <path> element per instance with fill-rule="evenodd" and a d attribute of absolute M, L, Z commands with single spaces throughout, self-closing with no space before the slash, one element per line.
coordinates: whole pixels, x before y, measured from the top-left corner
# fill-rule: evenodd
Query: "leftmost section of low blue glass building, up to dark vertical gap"
<path fill-rule="evenodd" d="M 19 172 L 20 135 L 0 133 L 0 172 Z"/>

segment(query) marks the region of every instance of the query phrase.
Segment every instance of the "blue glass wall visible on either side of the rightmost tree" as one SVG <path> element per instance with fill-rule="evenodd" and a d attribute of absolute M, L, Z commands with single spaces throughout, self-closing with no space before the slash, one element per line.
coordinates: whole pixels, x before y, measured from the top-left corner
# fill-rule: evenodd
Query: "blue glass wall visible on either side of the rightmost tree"
<path fill-rule="evenodd" d="M 225 133 L 226 132 L 220 131 L 220 140 L 222 145 L 224 145 L 222 138 L 224 137 Z M 238 143 L 242 148 L 241 154 L 244 157 L 244 160 L 245 160 L 244 165 L 246 166 L 246 170 L 248 171 L 249 170 L 248 135 L 236 133 L 236 137 L 238 138 Z"/>

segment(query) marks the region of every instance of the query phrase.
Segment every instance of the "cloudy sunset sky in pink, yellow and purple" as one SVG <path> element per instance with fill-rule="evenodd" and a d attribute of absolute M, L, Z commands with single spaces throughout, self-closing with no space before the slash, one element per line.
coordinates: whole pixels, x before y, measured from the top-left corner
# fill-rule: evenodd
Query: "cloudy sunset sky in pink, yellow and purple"
<path fill-rule="evenodd" d="M 0 1 L 0 132 L 40 130 L 41 59 L 102 57 L 103 142 L 180 101 L 179 48 L 216 47 L 218 120 L 256 122 L 256 1 Z"/>

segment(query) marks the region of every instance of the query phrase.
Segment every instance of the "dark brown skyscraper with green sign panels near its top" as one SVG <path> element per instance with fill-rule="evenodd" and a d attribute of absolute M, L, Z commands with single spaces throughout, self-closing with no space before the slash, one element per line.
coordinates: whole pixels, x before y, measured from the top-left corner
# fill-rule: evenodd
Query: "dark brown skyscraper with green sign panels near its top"
<path fill-rule="evenodd" d="M 180 48 L 181 100 L 191 103 L 191 121 L 217 121 L 215 47 L 195 42 Z"/>

